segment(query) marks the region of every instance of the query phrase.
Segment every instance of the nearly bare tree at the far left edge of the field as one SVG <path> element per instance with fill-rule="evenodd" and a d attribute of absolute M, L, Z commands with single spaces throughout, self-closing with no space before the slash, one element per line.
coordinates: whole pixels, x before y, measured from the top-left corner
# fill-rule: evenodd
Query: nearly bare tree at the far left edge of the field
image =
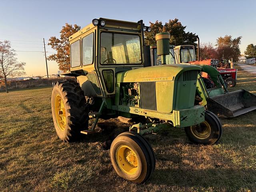
<path fill-rule="evenodd" d="M 0 41 L 0 78 L 4 79 L 6 93 L 8 93 L 7 78 L 25 74 L 26 63 L 18 62 L 15 50 L 11 48 L 9 41 Z"/>

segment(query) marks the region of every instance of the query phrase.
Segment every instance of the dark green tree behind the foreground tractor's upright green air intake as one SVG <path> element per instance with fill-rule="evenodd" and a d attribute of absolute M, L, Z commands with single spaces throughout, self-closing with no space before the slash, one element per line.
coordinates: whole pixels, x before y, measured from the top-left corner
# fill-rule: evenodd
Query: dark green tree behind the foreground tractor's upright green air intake
<path fill-rule="evenodd" d="M 147 45 L 155 45 L 156 39 L 155 36 L 160 32 L 169 32 L 170 33 L 170 44 L 172 45 L 185 45 L 190 44 L 195 47 L 197 40 L 196 34 L 191 32 L 185 32 L 186 26 L 183 26 L 177 18 L 174 20 L 169 20 L 168 23 L 164 25 L 160 21 L 155 23 L 150 22 L 151 32 L 145 33 L 145 43 Z"/>

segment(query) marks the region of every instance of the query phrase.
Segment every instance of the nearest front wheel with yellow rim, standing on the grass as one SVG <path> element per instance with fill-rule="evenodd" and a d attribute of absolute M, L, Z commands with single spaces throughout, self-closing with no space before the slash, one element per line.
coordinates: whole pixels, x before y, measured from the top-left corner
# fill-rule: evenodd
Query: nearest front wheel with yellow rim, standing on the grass
<path fill-rule="evenodd" d="M 116 173 L 135 183 L 146 182 L 154 170 L 154 153 L 140 137 L 138 134 L 122 133 L 110 147 L 110 158 Z"/>

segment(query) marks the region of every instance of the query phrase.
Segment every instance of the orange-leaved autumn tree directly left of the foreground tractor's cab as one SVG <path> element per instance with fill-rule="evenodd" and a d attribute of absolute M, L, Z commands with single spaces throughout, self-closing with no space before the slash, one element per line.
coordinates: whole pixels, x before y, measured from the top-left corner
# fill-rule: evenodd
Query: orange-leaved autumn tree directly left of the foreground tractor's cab
<path fill-rule="evenodd" d="M 48 45 L 57 51 L 56 54 L 48 56 L 48 60 L 54 60 L 58 63 L 59 69 L 63 71 L 70 70 L 70 49 L 68 38 L 80 30 L 80 26 L 66 23 L 60 30 L 60 38 L 50 37 Z"/>

